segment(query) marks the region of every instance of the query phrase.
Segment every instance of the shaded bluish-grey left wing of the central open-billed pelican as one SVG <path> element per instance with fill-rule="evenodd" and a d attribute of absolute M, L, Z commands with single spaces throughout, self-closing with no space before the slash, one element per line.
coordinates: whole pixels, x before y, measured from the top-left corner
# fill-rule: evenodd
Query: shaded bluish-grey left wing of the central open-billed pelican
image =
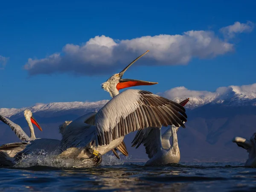
<path fill-rule="evenodd" d="M 96 134 L 96 113 L 87 113 L 67 125 L 61 139 L 62 150 L 70 147 L 85 147 L 93 140 Z"/>

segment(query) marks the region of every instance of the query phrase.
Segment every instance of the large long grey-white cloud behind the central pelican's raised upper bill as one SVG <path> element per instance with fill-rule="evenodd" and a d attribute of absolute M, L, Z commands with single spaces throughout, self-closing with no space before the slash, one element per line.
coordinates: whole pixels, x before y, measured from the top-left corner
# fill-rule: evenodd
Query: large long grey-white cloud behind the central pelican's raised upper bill
<path fill-rule="evenodd" d="M 150 50 L 137 64 L 187 64 L 192 58 L 212 58 L 233 50 L 212 31 L 188 31 L 182 35 L 143 36 L 115 42 L 96 36 L 85 44 L 67 44 L 62 52 L 43 59 L 29 58 L 24 66 L 29 75 L 75 73 L 95 75 L 117 72 L 137 56 Z"/>

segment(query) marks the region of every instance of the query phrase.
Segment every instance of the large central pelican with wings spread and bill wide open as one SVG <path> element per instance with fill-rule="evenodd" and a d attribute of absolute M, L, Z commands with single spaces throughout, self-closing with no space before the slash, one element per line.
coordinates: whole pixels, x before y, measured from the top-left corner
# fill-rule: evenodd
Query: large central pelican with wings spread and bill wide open
<path fill-rule="evenodd" d="M 187 116 L 182 105 L 144 90 L 130 89 L 119 93 L 119 90 L 126 87 L 157 84 L 122 79 L 125 71 L 143 55 L 102 84 L 112 99 L 99 112 L 84 115 L 80 122 L 76 121 L 78 124 L 75 126 L 70 123 L 70 128 L 67 127 L 61 140 L 62 148 L 66 150 L 61 155 L 67 153 L 69 148 L 80 148 L 86 154 L 84 158 L 95 155 L 94 160 L 99 164 L 102 161 L 101 155 L 107 151 L 96 151 L 99 146 L 105 146 L 110 151 L 120 145 L 130 132 L 168 125 L 185 128 L 183 122 L 186 122 Z"/>

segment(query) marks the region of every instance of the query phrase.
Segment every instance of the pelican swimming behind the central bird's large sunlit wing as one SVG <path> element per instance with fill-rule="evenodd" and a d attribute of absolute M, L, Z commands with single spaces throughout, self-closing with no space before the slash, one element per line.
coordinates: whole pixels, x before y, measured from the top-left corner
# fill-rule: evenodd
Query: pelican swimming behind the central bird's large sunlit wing
<path fill-rule="evenodd" d="M 189 102 L 189 98 L 180 102 L 180 105 L 185 106 Z M 141 143 L 145 146 L 146 154 L 149 160 L 146 165 L 165 165 L 168 163 L 179 163 L 180 149 L 178 146 L 177 130 L 179 127 L 170 126 L 161 136 L 161 129 L 150 127 L 137 132 L 132 141 L 134 147 L 140 146 Z M 172 145 L 170 138 L 172 137 Z"/>

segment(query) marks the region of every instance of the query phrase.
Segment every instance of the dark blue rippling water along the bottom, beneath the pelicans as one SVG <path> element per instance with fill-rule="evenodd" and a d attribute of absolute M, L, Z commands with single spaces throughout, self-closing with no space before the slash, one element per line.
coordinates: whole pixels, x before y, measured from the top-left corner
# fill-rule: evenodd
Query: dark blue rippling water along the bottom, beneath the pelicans
<path fill-rule="evenodd" d="M 92 168 L 0 168 L 1 191 L 256 191 L 256 169 L 243 163 L 121 163 Z"/>

